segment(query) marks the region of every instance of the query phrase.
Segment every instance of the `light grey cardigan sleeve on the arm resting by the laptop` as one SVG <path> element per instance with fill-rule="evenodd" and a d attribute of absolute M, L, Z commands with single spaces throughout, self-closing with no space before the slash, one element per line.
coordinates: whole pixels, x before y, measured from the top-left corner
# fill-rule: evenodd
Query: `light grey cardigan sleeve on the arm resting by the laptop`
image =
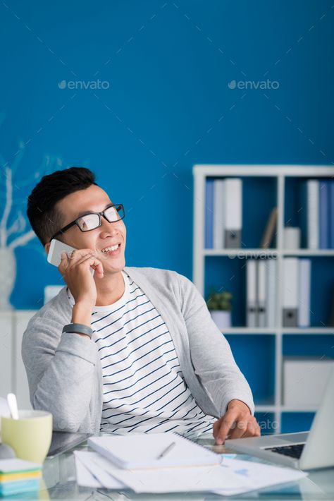
<path fill-rule="evenodd" d="M 194 372 L 209 393 L 220 416 L 238 399 L 254 414 L 249 384 L 238 368 L 227 339 L 212 320 L 204 298 L 194 284 L 178 274 L 180 303 L 190 342 Z"/>

